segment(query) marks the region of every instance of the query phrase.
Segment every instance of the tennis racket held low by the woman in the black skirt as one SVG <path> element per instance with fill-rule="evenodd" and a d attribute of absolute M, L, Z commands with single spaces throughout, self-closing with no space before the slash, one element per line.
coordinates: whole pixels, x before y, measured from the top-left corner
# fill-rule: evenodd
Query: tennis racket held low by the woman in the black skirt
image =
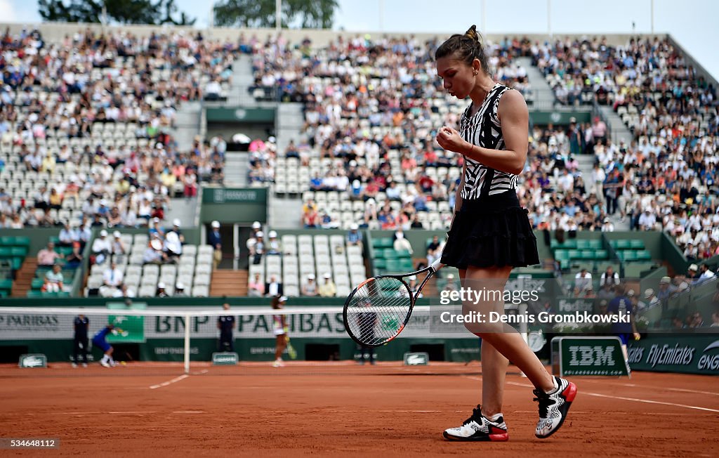
<path fill-rule="evenodd" d="M 380 347 L 402 332 L 416 298 L 434 273 L 443 264 L 436 260 L 429 267 L 400 275 L 377 275 L 352 290 L 344 301 L 344 329 L 354 342 L 363 347 Z M 408 278 L 426 273 L 416 291 Z"/>

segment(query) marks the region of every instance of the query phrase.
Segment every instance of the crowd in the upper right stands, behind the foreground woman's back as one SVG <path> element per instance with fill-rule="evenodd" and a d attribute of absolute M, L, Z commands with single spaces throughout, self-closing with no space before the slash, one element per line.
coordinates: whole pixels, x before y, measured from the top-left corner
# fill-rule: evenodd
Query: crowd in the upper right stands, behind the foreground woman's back
<path fill-rule="evenodd" d="M 603 210 L 619 212 L 633 230 L 667 232 L 687 260 L 718 255 L 719 117 L 713 84 L 669 38 L 631 39 L 623 47 L 596 39 L 557 40 L 535 45 L 532 53 L 550 80 L 570 93 L 596 93 L 597 103 L 612 106 L 631 131 L 632 138 L 619 145 L 597 137 L 597 122 L 559 134 L 579 140 L 570 150 L 595 155 L 597 167 L 585 183 L 594 196 L 588 198 L 605 202 Z M 577 206 L 582 197 L 572 200 Z M 566 196 L 564 203 L 559 211 L 572 213 Z M 601 220 L 598 214 L 597 223 Z"/>

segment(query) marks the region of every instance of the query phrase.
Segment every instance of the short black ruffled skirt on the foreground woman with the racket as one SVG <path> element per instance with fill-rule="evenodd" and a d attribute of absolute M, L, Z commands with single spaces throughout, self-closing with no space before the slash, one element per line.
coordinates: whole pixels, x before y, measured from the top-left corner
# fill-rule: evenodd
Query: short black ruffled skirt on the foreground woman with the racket
<path fill-rule="evenodd" d="M 454 216 L 441 262 L 466 269 L 539 264 L 528 211 L 515 191 L 463 201 Z"/>

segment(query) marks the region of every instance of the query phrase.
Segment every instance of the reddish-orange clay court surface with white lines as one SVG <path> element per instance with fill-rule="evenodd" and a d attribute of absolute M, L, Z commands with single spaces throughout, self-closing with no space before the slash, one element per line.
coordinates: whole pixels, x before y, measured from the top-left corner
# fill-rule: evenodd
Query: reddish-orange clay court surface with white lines
<path fill-rule="evenodd" d="M 510 367 L 503 412 L 508 442 L 457 443 L 441 432 L 480 400 L 472 365 L 349 362 L 105 369 L 0 366 L 0 436 L 58 438 L 59 449 L 22 456 L 436 456 L 715 457 L 715 377 L 635 372 L 631 379 L 575 377 L 567 422 L 536 439 L 528 380 Z M 703 410 L 702 410 L 703 409 Z"/>

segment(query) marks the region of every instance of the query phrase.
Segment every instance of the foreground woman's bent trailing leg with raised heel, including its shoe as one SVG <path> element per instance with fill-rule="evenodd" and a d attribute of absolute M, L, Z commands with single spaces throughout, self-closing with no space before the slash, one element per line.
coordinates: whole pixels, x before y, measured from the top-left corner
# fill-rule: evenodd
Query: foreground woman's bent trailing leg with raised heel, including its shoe
<path fill-rule="evenodd" d="M 503 293 L 506 282 L 509 278 L 511 267 L 491 267 L 467 269 L 465 283 L 474 285 L 475 288 L 486 288 Z M 495 310 L 500 301 L 493 298 L 485 298 L 485 301 L 467 301 L 463 304 L 462 311 L 467 313 L 475 311 L 489 316 L 489 312 Z M 500 303 L 503 308 L 503 300 Z M 482 337 L 484 342 L 489 342 L 505 358 L 509 359 L 528 377 L 536 388 L 533 393 L 535 400 L 539 402 L 539 423 L 537 423 L 535 434 L 537 437 L 549 437 L 554 434 L 567 416 L 569 406 L 577 394 L 577 387 L 574 383 L 559 377 L 553 377 L 542 365 L 529 346 L 524 342 L 522 336 L 508 326 L 501 323 L 487 323 L 486 321 L 465 324 L 467 329 Z M 482 373 L 486 370 L 482 365 Z M 490 370 L 497 370 L 490 368 Z"/>

